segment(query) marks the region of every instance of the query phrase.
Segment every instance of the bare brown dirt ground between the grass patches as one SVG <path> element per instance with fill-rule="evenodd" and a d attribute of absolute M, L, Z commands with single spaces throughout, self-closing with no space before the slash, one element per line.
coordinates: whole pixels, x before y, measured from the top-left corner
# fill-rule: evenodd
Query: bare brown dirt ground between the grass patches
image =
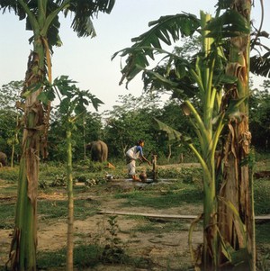
<path fill-rule="evenodd" d="M 103 212 L 141 212 L 141 213 L 155 213 L 161 215 L 179 215 L 179 214 L 194 214 L 198 215 L 202 210 L 198 207 L 185 204 L 177 208 L 156 210 L 148 207 L 131 206 L 123 208 L 121 206 L 122 199 L 115 199 L 110 191 L 114 187 L 121 185 L 121 189 L 133 189 L 134 185 L 140 188 L 140 183 L 132 181 L 114 181 L 107 184 L 107 194 L 96 196 L 93 192 L 84 194 L 91 202 L 98 203 L 99 210 Z M 65 199 L 66 195 L 63 193 L 55 194 L 39 194 L 39 200 L 55 200 Z M 15 200 L 15 199 L 14 199 Z M 89 206 L 89 208 L 91 208 Z M 108 219 L 110 214 L 95 214 L 89 216 L 85 220 L 76 220 L 74 223 L 74 242 L 76 244 L 93 244 L 99 243 L 101 246 L 105 245 L 105 236 L 108 235 L 106 228 L 109 227 Z M 166 221 L 172 219 L 151 219 L 157 223 L 158 227 L 162 229 Z M 188 248 L 188 229 L 191 220 L 184 220 L 181 230 L 165 232 L 162 234 L 136 231 L 135 228 L 143 226 L 148 221 L 139 219 L 138 216 L 118 215 L 117 224 L 119 232 L 117 237 L 121 239 L 121 248 L 124 248 L 125 253 L 130 257 L 142 257 L 148 262 L 150 269 L 141 269 L 135 267 L 125 266 L 124 270 L 186 270 L 186 265 L 191 266 L 191 256 Z M 182 225 L 182 224 L 181 224 Z M 0 230 L 0 266 L 3 266 L 8 259 L 8 252 L 12 239 L 13 230 Z M 193 232 L 193 246 L 196 247 L 202 243 L 201 230 Z M 39 216 L 38 221 L 38 251 L 53 251 L 59 248 L 64 248 L 67 244 L 67 220 L 60 219 L 58 221 L 44 222 Z M 150 263 L 150 264 L 149 264 Z M 91 270 L 120 270 L 122 266 L 117 265 L 99 265 Z M 59 270 L 59 268 L 57 269 Z"/>

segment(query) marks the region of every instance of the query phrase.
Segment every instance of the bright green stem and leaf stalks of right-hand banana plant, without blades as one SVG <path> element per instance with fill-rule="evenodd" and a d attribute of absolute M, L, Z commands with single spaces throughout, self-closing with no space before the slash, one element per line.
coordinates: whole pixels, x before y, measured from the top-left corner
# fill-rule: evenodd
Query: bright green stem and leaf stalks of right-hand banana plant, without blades
<path fill-rule="evenodd" d="M 202 30 L 206 23 L 211 20 L 210 14 L 201 12 Z M 202 50 L 204 58 L 208 58 L 211 51 L 212 38 L 207 38 L 207 32 L 202 31 Z M 199 159 L 202 165 L 203 178 L 203 248 L 202 265 L 205 270 L 218 270 L 219 266 L 219 240 L 217 228 L 217 196 L 216 196 L 216 174 L 214 154 L 217 147 L 220 132 L 223 128 L 223 117 L 220 117 L 219 124 L 213 131 L 212 120 L 214 118 L 214 101 L 217 99 L 217 91 L 212 85 L 215 59 L 210 58 L 209 62 L 198 58 L 196 68 L 192 72 L 193 78 L 199 86 L 202 98 L 202 117 L 193 108 L 193 105 L 186 101 L 185 104 L 193 115 L 193 127 L 201 142 L 202 152 L 199 153 L 192 144 L 190 148 Z"/>

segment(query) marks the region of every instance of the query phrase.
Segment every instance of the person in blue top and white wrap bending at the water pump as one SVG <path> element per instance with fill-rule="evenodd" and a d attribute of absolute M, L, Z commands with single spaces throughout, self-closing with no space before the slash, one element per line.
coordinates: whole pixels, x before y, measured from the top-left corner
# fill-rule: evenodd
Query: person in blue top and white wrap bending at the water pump
<path fill-rule="evenodd" d="M 138 140 L 137 144 L 130 148 L 126 152 L 127 167 L 129 176 L 132 177 L 133 181 L 140 181 L 139 177 L 136 176 L 136 160 L 139 159 L 140 162 L 147 162 L 148 165 L 151 165 L 151 162 L 143 155 L 142 148 L 144 147 L 144 140 Z"/>

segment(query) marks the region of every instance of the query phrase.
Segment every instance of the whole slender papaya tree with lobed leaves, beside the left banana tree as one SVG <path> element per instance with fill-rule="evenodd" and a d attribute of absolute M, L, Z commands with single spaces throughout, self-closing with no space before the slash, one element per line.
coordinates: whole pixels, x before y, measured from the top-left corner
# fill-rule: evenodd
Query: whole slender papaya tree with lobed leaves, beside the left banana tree
<path fill-rule="evenodd" d="M 83 118 L 87 107 L 92 104 L 97 111 L 98 106 L 103 104 L 88 90 L 80 90 L 76 87 L 75 81 L 66 76 L 56 78 L 53 84 L 46 84 L 44 91 L 38 99 L 43 104 L 49 104 L 56 97 L 60 103 L 57 106 L 61 113 L 63 126 L 66 128 L 67 141 L 67 265 L 66 270 L 73 270 L 73 225 L 74 225 L 74 197 L 73 197 L 73 176 L 72 176 L 72 132 L 76 130 L 76 121 Z"/>

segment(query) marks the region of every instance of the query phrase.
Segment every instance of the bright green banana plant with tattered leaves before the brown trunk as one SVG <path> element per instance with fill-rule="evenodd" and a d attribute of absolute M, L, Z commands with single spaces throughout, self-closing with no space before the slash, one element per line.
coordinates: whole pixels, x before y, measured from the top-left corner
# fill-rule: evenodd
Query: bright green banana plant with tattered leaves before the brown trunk
<path fill-rule="evenodd" d="M 238 105 L 247 99 L 242 97 L 230 103 L 222 100 L 224 86 L 237 82 L 237 77 L 227 75 L 225 72 L 227 59 L 222 47 L 223 39 L 235 36 L 237 32 L 249 32 L 246 21 L 236 15 L 235 12 L 228 11 L 215 18 L 219 35 L 212 35 L 210 23 L 213 19 L 210 14 L 201 12 L 200 19 L 192 14 L 161 17 L 158 21 L 149 23 L 153 26 L 151 30 L 132 40 L 136 43 L 131 48 L 118 51 L 112 56 L 115 58 L 121 54 L 121 57 L 128 57 L 126 66 L 121 69 L 121 83 L 126 79 L 128 85 L 133 77 L 142 71 L 143 77 L 151 83 L 150 89 L 158 86 L 159 91 L 172 90 L 173 95 L 181 96 L 184 100 L 182 109 L 193 125 L 200 141 L 200 149 L 194 147 L 191 139 L 168 129 L 164 123 L 157 123 L 159 129 L 167 131 L 173 139 L 185 140 L 202 165 L 203 245 L 202 251 L 197 251 L 198 255 L 202 254 L 202 258 L 199 257 L 201 263 L 194 262 L 194 265 L 202 267 L 203 270 L 220 268 L 215 153 L 229 115 L 236 113 Z M 193 61 L 187 61 L 161 47 L 160 41 L 170 45 L 171 38 L 178 41 L 180 33 L 183 36 L 190 36 L 195 32 L 201 35 L 202 51 Z M 162 59 L 164 64 L 148 69 L 148 58 L 155 59 L 155 54 L 165 56 Z M 193 105 L 192 101 L 195 99 L 200 100 L 200 107 Z"/>

